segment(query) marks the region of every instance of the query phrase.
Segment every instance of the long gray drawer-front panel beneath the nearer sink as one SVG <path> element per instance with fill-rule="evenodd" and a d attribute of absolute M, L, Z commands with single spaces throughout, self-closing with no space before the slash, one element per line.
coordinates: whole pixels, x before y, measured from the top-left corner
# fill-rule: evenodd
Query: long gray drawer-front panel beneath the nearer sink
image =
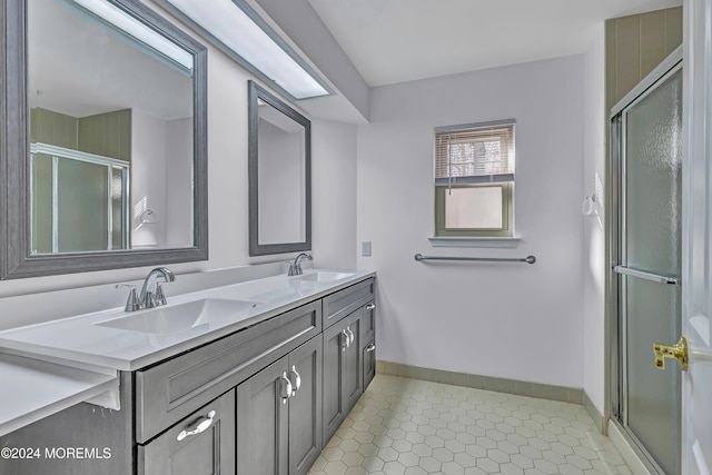
<path fill-rule="evenodd" d="M 144 443 L 322 331 L 314 301 L 136 372 L 136 439 Z"/>

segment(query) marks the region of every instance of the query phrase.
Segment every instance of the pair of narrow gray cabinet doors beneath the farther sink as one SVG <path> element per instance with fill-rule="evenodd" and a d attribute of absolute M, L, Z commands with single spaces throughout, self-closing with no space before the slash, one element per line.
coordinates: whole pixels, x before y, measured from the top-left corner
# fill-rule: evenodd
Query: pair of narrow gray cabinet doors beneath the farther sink
<path fill-rule="evenodd" d="M 325 441 L 332 438 L 362 393 L 362 311 L 359 308 L 324 331 Z"/>

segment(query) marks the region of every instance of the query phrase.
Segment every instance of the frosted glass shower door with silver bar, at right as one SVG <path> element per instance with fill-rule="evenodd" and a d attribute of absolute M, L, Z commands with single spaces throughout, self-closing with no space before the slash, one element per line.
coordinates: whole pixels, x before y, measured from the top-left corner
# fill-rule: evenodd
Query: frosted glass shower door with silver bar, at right
<path fill-rule="evenodd" d="M 622 111 L 619 311 L 622 423 L 668 474 L 680 473 L 681 375 L 655 367 L 681 313 L 682 69 Z"/>

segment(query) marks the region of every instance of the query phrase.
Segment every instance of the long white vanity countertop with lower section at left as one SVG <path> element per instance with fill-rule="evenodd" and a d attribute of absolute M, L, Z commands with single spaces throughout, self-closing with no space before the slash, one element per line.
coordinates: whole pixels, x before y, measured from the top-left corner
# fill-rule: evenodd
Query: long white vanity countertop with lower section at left
<path fill-rule="evenodd" d="M 170 297 L 170 285 L 166 285 L 168 305 L 158 309 L 175 311 L 187 303 L 212 299 L 215 307 L 210 308 L 219 310 L 208 311 L 212 315 L 174 333 L 107 326 L 113 325 L 109 320 L 140 317 L 147 311 L 127 313 L 123 308 L 0 331 L 0 436 L 117 388 L 118 370 L 142 368 L 375 275 L 328 270 L 346 277 L 310 280 L 319 271 L 248 280 L 177 297 Z"/>

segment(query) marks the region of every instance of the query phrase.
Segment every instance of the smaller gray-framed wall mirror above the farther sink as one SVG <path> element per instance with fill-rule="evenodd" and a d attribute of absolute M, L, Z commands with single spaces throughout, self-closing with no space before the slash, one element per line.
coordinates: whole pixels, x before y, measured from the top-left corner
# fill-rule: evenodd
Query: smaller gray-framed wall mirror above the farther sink
<path fill-rule="evenodd" d="M 249 255 L 312 249 L 312 122 L 248 81 Z"/>

